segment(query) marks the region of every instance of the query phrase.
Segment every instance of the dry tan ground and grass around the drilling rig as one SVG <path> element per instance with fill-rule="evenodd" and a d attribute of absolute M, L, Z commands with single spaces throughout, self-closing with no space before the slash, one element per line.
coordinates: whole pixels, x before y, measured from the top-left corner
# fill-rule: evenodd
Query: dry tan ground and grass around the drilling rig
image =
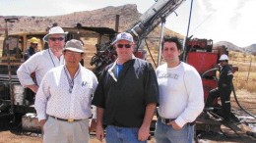
<path fill-rule="evenodd" d="M 241 53 L 230 52 L 230 64 L 237 66 L 239 71 L 234 73 L 234 86 L 237 100 L 241 107 L 249 111 L 252 115 L 256 115 L 256 57 L 247 56 Z M 88 60 L 88 59 L 87 59 Z M 198 133 L 196 142 L 200 143 L 253 143 L 256 142 L 256 119 L 247 116 L 240 110 L 235 102 L 234 95 L 231 95 L 232 112 L 236 116 L 245 120 L 239 127 L 244 131 L 244 136 L 236 135 L 231 129 L 222 125 L 221 132 L 200 132 Z M 246 123 L 247 120 L 247 123 Z M 0 124 L 3 120 L 0 120 Z M 248 124 L 248 122 L 250 122 Z M 254 137 L 246 135 L 246 131 L 254 132 Z M 41 134 L 22 131 L 16 127 L 0 125 L 0 143 L 40 143 Z M 154 136 L 148 141 L 156 143 Z M 96 140 L 95 133 L 92 133 L 90 143 L 99 143 Z"/>

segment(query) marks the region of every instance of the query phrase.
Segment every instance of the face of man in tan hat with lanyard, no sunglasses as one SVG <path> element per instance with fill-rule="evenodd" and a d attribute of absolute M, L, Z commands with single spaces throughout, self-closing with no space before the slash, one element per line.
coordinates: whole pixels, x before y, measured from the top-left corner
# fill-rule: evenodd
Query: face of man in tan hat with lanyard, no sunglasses
<path fill-rule="evenodd" d="M 63 52 L 63 55 L 65 58 L 65 63 L 67 65 L 67 67 L 77 67 L 79 62 L 83 58 L 82 53 L 73 52 L 73 51 L 69 51 L 69 50 L 65 50 Z"/>

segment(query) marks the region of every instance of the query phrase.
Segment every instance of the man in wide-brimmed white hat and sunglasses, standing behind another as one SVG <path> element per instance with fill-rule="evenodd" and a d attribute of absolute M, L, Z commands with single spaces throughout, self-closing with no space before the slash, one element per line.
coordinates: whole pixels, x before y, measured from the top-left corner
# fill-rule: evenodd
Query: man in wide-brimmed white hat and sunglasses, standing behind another
<path fill-rule="evenodd" d="M 49 33 L 43 37 L 44 42 L 48 43 L 49 49 L 32 55 L 17 71 L 23 86 L 36 93 L 45 72 L 63 64 L 62 49 L 66 35 L 67 32 L 64 32 L 60 26 L 53 26 L 49 29 Z M 35 72 L 36 82 L 31 77 L 32 72 Z"/>

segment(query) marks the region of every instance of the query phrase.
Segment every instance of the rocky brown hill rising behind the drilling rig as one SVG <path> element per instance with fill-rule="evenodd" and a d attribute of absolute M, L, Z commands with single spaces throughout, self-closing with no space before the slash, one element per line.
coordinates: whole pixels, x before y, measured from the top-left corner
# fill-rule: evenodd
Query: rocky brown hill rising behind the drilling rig
<path fill-rule="evenodd" d="M 128 29 L 132 24 L 139 21 L 140 14 L 135 4 L 128 4 L 119 7 L 105 7 L 93 11 L 76 12 L 68 15 L 54 17 L 19 17 L 16 23 L 8 24 L 9 32 L 30 32 L 30 31 L 45 31 L 48 26 L 56 23 L 60 26 L 75 26 L 80 23 L 84 26 L 104 26 L 115 27 L 115 17 L 120 16 L 119 31 Z M 4 20 L 0 17 L 0 28 L 4 27 Z M 0 33 L 4 31 L 0 31 Z M 166 29 L 167 34 L 183 37 L 181 34 Z M 153 33 L 160 33 L 160 27 L 157 27 Z"/>

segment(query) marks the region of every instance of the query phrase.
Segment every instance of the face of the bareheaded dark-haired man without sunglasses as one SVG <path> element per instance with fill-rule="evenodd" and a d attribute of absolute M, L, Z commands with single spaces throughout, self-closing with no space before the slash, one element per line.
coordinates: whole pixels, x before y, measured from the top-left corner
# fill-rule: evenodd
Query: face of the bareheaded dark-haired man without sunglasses
<path fill-rule="evenodd" d="M 162 47 L 162 57 L 166 63 L 176 63 L 179 61 L 180 50 L 174 42 L 164 42 Z"/>

